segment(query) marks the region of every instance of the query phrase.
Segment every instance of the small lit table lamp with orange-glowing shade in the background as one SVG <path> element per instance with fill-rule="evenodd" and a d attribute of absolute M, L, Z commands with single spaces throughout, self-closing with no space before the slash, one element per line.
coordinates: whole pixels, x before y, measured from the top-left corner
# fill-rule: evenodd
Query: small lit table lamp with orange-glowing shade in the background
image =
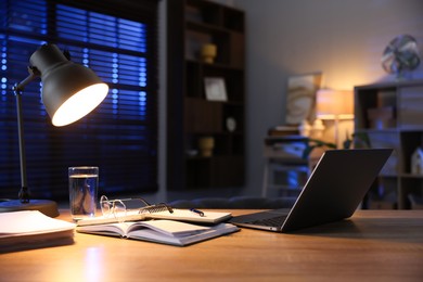
<path fill-rule="evenodd" d="M 348 90 L 320 89 L 316 97 L 316 118 L 334 120 L 334 138 L 339 145 L 339 120 L 354 119 L 354 93 Z"/>

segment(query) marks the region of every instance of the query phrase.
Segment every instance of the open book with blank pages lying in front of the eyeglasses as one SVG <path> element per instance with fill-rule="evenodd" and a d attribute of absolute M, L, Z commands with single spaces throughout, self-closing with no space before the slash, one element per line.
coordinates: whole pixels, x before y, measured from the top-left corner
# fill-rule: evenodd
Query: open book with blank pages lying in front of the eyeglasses
<path fill-rule="evenodd" d="M 76 228 L 76 231 L 82 233 L 121 236 L 177 246 L 190 245 L 238 230 L 238 227 L 230 223 L 205 227 L 166 219 L 78 226 Z"/>

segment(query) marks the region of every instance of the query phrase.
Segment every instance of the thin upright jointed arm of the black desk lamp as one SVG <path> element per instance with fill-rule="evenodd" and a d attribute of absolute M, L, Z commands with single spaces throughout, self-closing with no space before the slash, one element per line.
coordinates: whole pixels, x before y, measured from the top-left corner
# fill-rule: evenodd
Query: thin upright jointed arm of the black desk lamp
<path fill-rule="evenodd" d="M 17 133 L 20 141 L 20 163 L 21 163 L 21 190 L 18 197 L 21 203 L 29 203 L 29 188 L 26 180 L 26 153 L 24 142 L 24 126 L 22 115 L 22 92 L 25 87 L 35 78 L 40 76 L 40 72 L 36 67 L 28 66 L 29 76 L 27 76 L 20 84 L 13 87 L 13 92 L 16 97 L 16 114 L 17 114 Z"/>

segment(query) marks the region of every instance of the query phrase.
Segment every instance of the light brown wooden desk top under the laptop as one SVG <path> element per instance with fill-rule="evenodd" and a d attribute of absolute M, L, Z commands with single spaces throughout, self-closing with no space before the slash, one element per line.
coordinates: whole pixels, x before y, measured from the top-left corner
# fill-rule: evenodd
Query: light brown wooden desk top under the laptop
<path fill-rule="evenodd" d="M 423 281 L 423 210 L 359 210 L 351 220 L 297 234 L 242 229 L 187 247 L 76 233 L 73 245 L 0 255 L 0 281 L 283 278 Z"/>

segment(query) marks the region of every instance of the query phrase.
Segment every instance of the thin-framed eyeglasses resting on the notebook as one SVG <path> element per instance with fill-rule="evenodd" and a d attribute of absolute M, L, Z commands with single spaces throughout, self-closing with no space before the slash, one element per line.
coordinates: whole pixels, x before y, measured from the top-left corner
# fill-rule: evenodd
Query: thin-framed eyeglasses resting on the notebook
<path fill-rule="evenodd" d="M 138 202 L 139 204 L 142 204 L 143 206 L 128 209 L 127 205 L 125 203 L 131 202 Z M 111 217 L 114 216 L 118 222 L 125 222 L 127 213 L 132 210 L 133 214 L 144 214 L 144 213 L 157 213 L 157 211 L 164 211 L 168 210 L 170 214 L 174 213 L 174 209 L 166 205 L 165 203 L 152 205 L 142 197 L 133 197 L 133 198 L 117 198 L 117 200 L 108 200 L 105 195 L 102 195 L 100 197 L 100 207 L 101 213 L 104 217 Z"/>

